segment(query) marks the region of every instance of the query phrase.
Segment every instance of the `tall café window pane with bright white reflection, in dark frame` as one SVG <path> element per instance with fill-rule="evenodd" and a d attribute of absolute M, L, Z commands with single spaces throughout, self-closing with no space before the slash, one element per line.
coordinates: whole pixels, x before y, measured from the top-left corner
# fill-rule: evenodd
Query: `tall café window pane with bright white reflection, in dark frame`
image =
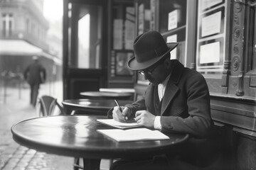
<path fill-rule="evenodd" d="M 69 65 L 100 69 L 102 50 L 102 6 L 69 4 Z"/>

